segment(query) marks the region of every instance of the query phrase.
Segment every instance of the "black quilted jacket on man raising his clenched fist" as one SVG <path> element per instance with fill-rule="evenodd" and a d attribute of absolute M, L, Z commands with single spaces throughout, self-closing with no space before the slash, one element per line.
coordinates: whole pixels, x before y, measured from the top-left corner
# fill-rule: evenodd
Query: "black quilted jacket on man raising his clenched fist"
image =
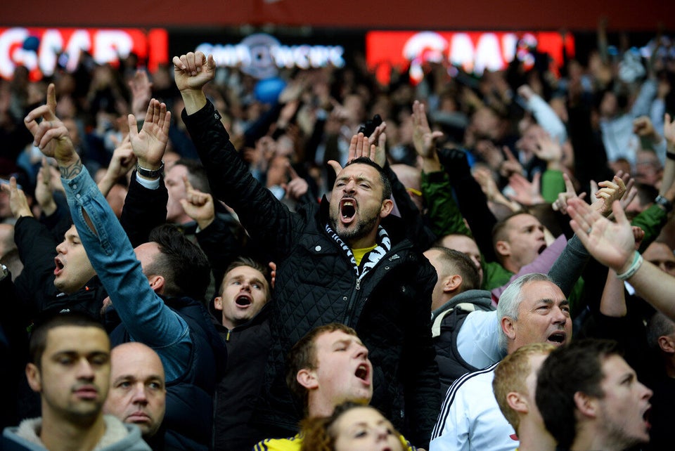
<path fill-rule="evenodd" d="M 277 263 L 272 348 L 257 422 L 297 429 L 301 414 L 285 386 L 285 355 L 313 327 L 343 322 L 368 347 L 374 368 L 371 404 L 413 444 L 425 447 L 440 406 L 430 329 L 436 273 L 405 236 L 404 225 L 385 218 L 392 249 L 357 282 L 352 263 L 325 231 L 327 200 L 291 213 L 252 178 L 211 103 L 193 115 L 184 112 L 183 120 L 214 194 L 237 212 L 252 239 Z"/>

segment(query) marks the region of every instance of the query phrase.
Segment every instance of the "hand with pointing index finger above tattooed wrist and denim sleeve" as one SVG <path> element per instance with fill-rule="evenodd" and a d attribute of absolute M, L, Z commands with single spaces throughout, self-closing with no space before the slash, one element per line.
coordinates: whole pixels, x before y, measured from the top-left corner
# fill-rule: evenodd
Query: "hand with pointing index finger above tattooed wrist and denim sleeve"
<path fill-rule="evenodd" d="M 38 119 L 41 119 L 41 122 L 38 123 Z M 68 129 L 56 117 L 56 88 L 53 83 L 47 87 L 46 105 L 29 112 L 24 122 L 33 136 L 33 145 L 36 145 L 46 157 L 56 158 L 59 166 L 70 166 L 79 161 Z"/>

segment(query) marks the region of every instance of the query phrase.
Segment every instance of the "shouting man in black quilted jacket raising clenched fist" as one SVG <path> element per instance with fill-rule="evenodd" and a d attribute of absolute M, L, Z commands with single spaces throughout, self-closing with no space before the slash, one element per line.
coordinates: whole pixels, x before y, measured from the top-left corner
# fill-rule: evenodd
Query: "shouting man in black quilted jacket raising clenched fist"
<path fill-rule="evenodd" d="M 398 185 L 387 178 L 395 176 L 368 158 L 356 159 L 339 171 L 330 204 L 324 199 L 320 207 L 304 205 L 291 213 L 252 178 L 207 101 L 202 88 L 214 77 L 212 58 L 188 53 L 175 57 L 174 66 L 184 122 L 214 195 L 278 262 L 272 348 L 255 416 L 262 433 L 288 436 L 301 416 L 283 380 L 285 353 L 313 327 L 343 322 L 371 351 L 372 404 L 414 444 L 426 447 L 439 409 L 429 318 L 436 275 L 409 238 L 411 224 L 389 217 L 389 186 Z M 350 155 L 370 151 L 363 135 L 352 138 Z M 407 194 L 397 200 L 399 210 L 415 208 L 406 204 Z"/>

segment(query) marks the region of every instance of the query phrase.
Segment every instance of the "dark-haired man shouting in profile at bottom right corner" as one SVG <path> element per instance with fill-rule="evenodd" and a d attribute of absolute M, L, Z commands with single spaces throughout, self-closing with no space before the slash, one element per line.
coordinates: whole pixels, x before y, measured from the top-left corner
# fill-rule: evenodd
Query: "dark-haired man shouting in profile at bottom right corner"
<path fill-rule="evenodd" d="M 573 341 L 553 351 L 536 382 L 536 405 L 559 450 L 648 443 L 651 397 L 611 340 Z"/>

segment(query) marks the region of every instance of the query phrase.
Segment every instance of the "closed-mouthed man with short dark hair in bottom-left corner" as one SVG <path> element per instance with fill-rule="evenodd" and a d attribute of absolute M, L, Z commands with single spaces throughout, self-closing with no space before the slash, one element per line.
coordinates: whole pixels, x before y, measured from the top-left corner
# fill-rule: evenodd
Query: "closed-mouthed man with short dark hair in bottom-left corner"
<path fill-rule="evenodd" d="M 7 428 L 3 450 L 147 451 L 136 426 L 103 415 L 110 384 L 110 340 L 81 313 L 53 316 L 30 339 L 26 377 L 40 393 L 42 417 Z"/>

